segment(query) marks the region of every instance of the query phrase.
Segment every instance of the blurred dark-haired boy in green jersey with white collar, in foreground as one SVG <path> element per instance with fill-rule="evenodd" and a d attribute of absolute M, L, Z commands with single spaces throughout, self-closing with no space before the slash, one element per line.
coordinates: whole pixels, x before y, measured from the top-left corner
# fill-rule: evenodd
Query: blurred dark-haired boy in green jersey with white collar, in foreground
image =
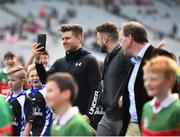
<path fill-rule="evenodd" d="M 47 80 L 47 102 L 57 117 L 51 127 L 52 136 L 90 136 L 92 130 L 72 102 L 77 97 L 77 84 L 68 73 L 55 73 Z"/>

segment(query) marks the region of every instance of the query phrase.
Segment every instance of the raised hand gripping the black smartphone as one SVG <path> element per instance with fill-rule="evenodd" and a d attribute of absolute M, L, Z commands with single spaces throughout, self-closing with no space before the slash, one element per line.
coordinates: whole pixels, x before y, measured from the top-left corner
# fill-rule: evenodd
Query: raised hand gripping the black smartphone
<path fill-rule="evenodd" d="M 41 49 L 43 49 L 43 47 L 39 47 L 40 43 L 34 43 L 32 45 L 32 52 L 33 52 L 33 56 L 35 59 L 35 62 L 38 64 L 41 64 Z"/>

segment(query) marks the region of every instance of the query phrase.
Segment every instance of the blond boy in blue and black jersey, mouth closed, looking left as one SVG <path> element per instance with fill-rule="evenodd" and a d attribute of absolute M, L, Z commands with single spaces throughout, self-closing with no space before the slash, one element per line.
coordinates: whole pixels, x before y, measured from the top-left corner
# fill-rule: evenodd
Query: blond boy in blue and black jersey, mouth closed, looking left
<path fill-rule="evenodd" d="M 26 71 L 22 66 L 15 66 L 8 72 L 8 86 L 12 94 L 7 101 L 12 107 L 15 136 L 28 136 L 32 127 L 32 102 L 23 91 L 25 79 Z"/>

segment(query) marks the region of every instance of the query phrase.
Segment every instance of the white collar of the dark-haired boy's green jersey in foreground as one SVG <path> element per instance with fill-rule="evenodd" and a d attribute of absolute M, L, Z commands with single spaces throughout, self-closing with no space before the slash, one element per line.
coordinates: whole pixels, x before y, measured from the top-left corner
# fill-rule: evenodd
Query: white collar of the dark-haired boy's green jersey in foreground
<path fill-rule="evenodd" d="M 60 129 L 62 126 L 64 126 L 72 117 L 77 115 L 79 113 L 78 107 L 72 107 L 70 108 L 62 117 L 57 117 L 55 119 L 55 124 L 57 125 L 57 128 Z"/>

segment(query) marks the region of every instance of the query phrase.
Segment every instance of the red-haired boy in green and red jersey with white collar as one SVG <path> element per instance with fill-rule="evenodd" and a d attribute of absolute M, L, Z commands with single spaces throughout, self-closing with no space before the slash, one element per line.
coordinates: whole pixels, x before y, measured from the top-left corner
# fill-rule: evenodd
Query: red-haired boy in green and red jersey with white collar
<path fill-rule="evenodd" d="M 151 59 L 143 67 L 144 86 L 149 96 L 142 115 L 144 136 L 180 136 L 180 101 L 172 94 L 176 82 L 177 64 L 168 57 Z"/>

